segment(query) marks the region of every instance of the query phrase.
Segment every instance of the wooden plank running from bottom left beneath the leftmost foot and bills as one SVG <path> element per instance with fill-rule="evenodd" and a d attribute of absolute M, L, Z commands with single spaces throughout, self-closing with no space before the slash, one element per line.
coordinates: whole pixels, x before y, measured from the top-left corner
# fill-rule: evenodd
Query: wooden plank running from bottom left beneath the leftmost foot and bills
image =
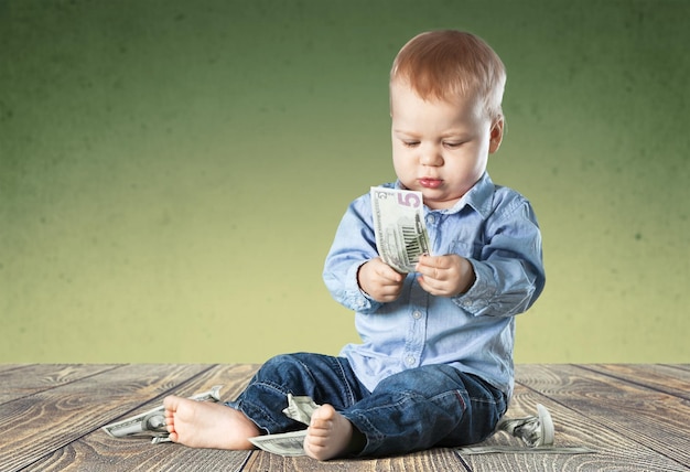
<path fill-rule="evenodd" d="M 165 393 L 181 396 L 206 391 L 214 385 L 224 385 L 220 390 L 224 401 L 234 399 L 244 389 L 257 371 L 255 365 L 214 366 L 206 372 L 180 384 Z M 161 398 L 145 401 L 130 415 L 161 405 Z M 105 425 L 105 423 L 104 423 Z M 104 426 L 100 425 L 100 426 Z M 145 438 L 110 438 L 97 429 L 54 453 L 35 462 L 28 471 L 236 471 L 240 470 L 249 455 L 248 451 L 220 451 L 191 449 L 181 444 L 151 444 Z"/>

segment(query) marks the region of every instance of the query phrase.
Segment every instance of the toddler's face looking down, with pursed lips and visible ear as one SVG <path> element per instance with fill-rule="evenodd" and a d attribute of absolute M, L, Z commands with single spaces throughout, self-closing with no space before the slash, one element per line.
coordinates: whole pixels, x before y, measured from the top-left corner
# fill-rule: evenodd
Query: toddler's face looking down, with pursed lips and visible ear
<path fill-rule="evenodd" d="M 503 118 L 492 121 L 476 97 L 428 101 L 405 84 L 392 84 L 390 93 L 398 179 L 421 191 L 430 208 L 452 207 L 500 146 Z"/>

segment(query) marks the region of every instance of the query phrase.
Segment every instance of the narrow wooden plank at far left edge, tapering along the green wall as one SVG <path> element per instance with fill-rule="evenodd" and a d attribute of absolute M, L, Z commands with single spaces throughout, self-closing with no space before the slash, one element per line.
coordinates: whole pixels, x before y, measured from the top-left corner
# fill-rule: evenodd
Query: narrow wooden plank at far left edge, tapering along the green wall
<path fill-rule="evenodd" d="M 0 404 L 116 368 L 114 364 L 25 364 L 0 371 Z"/>

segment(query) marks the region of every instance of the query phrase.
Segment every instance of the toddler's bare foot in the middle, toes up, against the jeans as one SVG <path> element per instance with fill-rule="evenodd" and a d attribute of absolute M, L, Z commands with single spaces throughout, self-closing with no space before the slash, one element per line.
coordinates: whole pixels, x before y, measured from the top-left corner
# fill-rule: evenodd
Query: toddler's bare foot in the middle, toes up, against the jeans
<path fill-rule="evenodd" d="M 349 452 L 352 438 L 352 422 L 331 405 L 322 405 L 312 414 L 304 452 L 312 459 L 327 461 Z"/>

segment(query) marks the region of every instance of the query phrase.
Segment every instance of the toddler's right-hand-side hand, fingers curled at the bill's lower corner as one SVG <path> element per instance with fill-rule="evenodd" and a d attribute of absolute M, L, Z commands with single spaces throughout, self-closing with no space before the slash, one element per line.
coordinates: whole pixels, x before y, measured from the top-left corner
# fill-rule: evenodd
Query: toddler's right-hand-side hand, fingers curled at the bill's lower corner
<path fill-rule="evenodd" d="M 472 264 L 455 254 L 422 256 L 417 262 L 422 289 L 439 297 L 455 297 L 470 290 L 476 276 Z"/>

